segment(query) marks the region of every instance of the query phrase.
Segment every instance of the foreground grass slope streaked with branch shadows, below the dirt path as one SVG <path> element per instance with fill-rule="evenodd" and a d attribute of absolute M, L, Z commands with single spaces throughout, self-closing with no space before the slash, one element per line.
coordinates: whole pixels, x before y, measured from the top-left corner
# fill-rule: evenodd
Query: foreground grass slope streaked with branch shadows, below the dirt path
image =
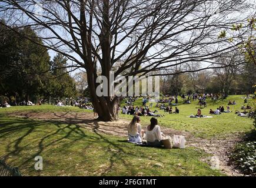
<path fill-rule="evenodd" d="M 77 125 L 6 117 L 0 114 L 0 156 L 29 176 L 221 176 L 200 162 L 207 155 L 193 147 L 139 147 L 124 138 Z M 42 156 L 44 170 L 34 170 Z"/>

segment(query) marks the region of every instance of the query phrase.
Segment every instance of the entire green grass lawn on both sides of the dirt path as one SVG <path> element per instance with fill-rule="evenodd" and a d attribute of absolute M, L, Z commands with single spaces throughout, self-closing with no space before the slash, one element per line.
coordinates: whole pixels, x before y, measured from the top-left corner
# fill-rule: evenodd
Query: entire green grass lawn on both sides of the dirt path
<path fill-rule="evenodd" d="M 208 108 L 202 109 L 208 115 L 210 108 L 227 105 L 236 100 L 231 110 L 240 109 L 243 99 L 230 96 L 216 103 L 208 101 Z M 181 99 L 179 99 L 181 102 Z M 140 106 L 139 99 L 135 105 Z M 198 105 L 178 106 L 179 115 L 159 118 L 159 125 L 175 130 L 191 132 L 196 137 L 225 137 L 232 133 L 252 129 L 252 120 L 237 117 L 234 113 L 214 116 L 212 119 L 195 119 L 187 116 L 197 113 Z M 35 120 L 9 117 L 11 112 L 84 112 L 75 107 L 18 106 L 0 109 L 0 158 L 11 166 L 19 167 L 25 176 L 223 176 L 218 170 L 202 162 L 209 157 L 195 147 L 186 149 L 157 149 L 135 146 L 125 142 L 125 137 L 104 135 L 89 131 L 74 124 L 63 124 L 54 120 Z M 160 112 L 164 114 L 163 111 Z M 131 120 L 132 116 L 120 115 Z M 142 117 L 147 125 L 151 117 Z M 35 156 L 44 159 L 44 170 L 34 169 Z"/>

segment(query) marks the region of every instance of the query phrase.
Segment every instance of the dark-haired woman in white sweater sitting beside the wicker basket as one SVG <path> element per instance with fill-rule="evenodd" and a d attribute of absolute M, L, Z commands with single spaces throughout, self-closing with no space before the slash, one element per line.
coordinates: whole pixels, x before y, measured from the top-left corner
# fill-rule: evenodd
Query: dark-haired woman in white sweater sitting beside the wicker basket
<path fill-rule="evenodd" d="M 158 121 L 155 117 L 151 118 L 150 123 L 146 133 L 147 145 L 159 147 L 162 145 L 161 128 L 157 125 Z"/>

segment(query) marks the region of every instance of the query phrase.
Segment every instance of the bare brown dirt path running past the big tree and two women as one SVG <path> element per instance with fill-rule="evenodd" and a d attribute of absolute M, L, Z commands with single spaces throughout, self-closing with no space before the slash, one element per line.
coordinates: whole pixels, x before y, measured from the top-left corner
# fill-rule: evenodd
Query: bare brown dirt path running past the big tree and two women
<path fill-rule="evenodd" d="M 9 116 L 23 117 L 28 119 L 49 120 L 54 122 L 63 122 L 67 124 L 75 124 L 85 129 L 95 130 L 99 133 L 106 133 L 109 135 L 127 137 L 127 120 L 118 120 L 115 122 L 99 122 L 93 118 L 92 113 L 75 113 L 75 112 L 56 112 L 56 113 L 35 113 L 35 112 L 19 112 L 9 113 Z M 142 127 L 145 129 L 145 127 Z M 228 153 L 234 147 L 235 143 L 240 141 L 238 135 L 227 136 L 227 139 L 200 139 L 191 135 L 188 132 L 181 132 L 168 128 L 163 128 L 162 132 L 165 135 L 184 135 L 187 146 L 194 146 L 204 150 L 207 153 L 217 157 L 220 160 L 220 170 L 229 176 L 243 176 L 233 166 L 228 164 Z M 202 159 L 211 165 L 210 158 Z"/>

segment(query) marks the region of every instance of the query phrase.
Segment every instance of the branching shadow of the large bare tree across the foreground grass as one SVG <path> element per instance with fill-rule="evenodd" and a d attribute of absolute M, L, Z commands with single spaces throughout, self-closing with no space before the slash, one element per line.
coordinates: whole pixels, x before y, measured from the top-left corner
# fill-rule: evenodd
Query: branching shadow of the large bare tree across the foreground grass
<path fill-rule="evenodd" d="M 84 132 L 85 129 L 82 128 L 80 125 L 76 125 L 74 123 L 67 123 L 59 120 L 42 121 L 26 118 L 11 118 L 0 120 L 0 139 L 10 138 L 10 142 L 6 145 L 6 152 L 2 157 L 4 158 L 4 160 L 7 160 L 9 157 L 12 156 L 21 157 L 22 161 L 18 164 L 18 167 L 20 167 L 21 169 L 26 169 L 26 172 L 33 174 L 35 173 L 35 156 L 44 156 L 45 150 L 48 149 L 51 149 L 54 153 L 55 148 L 51 147 L 53 145 L 58 145 L 58 150 L 56 150 L 56 152 L 61 151 L 61 153 L 64 153 L 69 147 L 76 145 L 78 141 L 82 140 L 83 146 L 81 148 L 78 148 L 78 150 L 87 150 L 87 148 L 93 145 L 94 142 L 98 142 L 99 145 L 101 142 L 107 143 L 107 147 L 104 146 L 104 150 L 106 150 L 109 155 L 109 164 L 107 165 L 107 168 L 101 170 L 101 173 L 99 174 L 101 176 L 105 176 L 108 175 L 109 172 L 113 172 L 112 170 L 114 170 L 114 166 L 117 164 L 122 164 L 122 167 L 124 167 L 130 175 L 136 175 L 135 168 L 137 168 L 138 166 L 134 166 L 130 159 L 136 159 L 138 157 L 143 160 L 149 159 L 148 156 L 150 155 L 150 152 L 147 148 L 138 147 L 138 152 L 141 152 L 141 150 L 143 150 L 142 154 L 130 152 L 129 150 L 127 150 L 127 148 L 132 148 L 132 144 L 127 143 L 127 145 L 124 145 L 125 143 L 121 143 L 118 142 L 118 140 L 111 139 L 109 135 L 105 135 L 104 132 L 102 133 L 102 130 L 100 129 L 97 120 L 89 119 L 87 120 L 87 122 L 93 123 L 92 132 L 94 132 L 95 135 L 86 134 L 86 132 Z M 34 146 L 31 147 L 31 145 Z M 32 148 L 33 150 L 29 152 L 33 153 L 24 153 L 28 150 L 31 150 Z M 86 157 L 86 155 L 84 155 L 84 153 L 82 152 L 80 152 L 79 155 L 81 155 L 82 158 Z M 65 157 L 66 156 L 64 156 L 64 160 Z M 152 162 L 159 162 L 157 160 L 157 157 L 156 159 L 150 160 Z M 168 165 L 168 163 L 161 163 Z M 56 172 L 58 170 L 59 169 L 56 169 Z"/>

